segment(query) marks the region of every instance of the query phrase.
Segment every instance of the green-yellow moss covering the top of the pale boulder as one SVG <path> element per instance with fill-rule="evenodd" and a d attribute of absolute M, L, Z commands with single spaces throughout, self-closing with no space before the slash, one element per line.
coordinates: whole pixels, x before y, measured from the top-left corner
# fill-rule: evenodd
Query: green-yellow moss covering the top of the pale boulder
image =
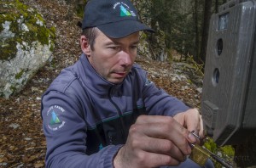
<path fill-rule="evenodd" d="M 0 59 L 15 57 L 17 43 L 38 41 L 42 45 L 54 46 L 52 36 L 55 32 L 45 26 L 43 17 L 19 0 L 0 0 Z M 7 23 L 10 23 L 7 25 Z M 14 34 L 14 36 L 6 36 Z"/>

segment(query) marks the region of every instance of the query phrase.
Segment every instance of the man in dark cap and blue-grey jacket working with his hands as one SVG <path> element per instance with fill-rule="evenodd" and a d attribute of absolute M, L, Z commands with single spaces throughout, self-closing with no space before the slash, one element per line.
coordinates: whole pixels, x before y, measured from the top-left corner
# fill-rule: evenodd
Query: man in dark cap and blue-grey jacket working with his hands
<path fill-rule="evenodd" d="M 79 61 L 42 98 L 46 167 L 195 165 L 186 156 L 189 132 L 203 136 L 201 115 L 134 64 L 139 31 L 153 30 L 131 2 L 90 0 L 82 28 Z"/>

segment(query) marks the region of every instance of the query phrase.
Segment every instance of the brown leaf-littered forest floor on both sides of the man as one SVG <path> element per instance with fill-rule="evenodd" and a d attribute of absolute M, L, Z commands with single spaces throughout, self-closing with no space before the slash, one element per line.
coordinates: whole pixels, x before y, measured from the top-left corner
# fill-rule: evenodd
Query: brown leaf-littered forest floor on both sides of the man
<path fill-rule="evenodd" d="M 21 1 L 22 2 L 22 1 Z M 0 98 L 0 167 L 44 167 L 46 142 L 40 115 L 41 96 L 61 69 L 73 64 L 81 53 L 73 8 L 64 0 L 24 0 L 44 16 L 48 27 L 55 26 L 52 59 L 32 78 L 18 95 Z M 200 107 L 201 76 L 196 79 L 189 64 L 160 63 L 142 57 L 137 63 L 148 70 L 149 78 L 185 103 Z M 183 70 L 186 70 L 185 72 Z M 192 81 L 198 81 L 195 85 Z"/>

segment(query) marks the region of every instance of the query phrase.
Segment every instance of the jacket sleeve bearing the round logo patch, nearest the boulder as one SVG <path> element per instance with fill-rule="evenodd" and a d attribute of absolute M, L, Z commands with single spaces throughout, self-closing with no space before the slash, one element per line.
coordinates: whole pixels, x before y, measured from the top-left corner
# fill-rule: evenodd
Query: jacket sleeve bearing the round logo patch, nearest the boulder
<path fill-rule="evenodd" d="M 113 167 L 113 157 L 121 146 L 109 145 L 86 155 L 86 122 L 72 98 L 51 91 L 42 98 L 41 112 L 47 140 L 46 167 Z"/>

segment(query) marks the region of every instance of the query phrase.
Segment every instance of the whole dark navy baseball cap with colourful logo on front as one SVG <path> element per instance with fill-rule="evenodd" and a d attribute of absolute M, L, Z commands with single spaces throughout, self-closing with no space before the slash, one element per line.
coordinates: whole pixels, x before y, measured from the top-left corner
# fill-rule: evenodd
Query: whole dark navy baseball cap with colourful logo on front
<path fill-rule="evenodd" d="M 82 29 L 97 27 L 106 36 L 122 38 L 137 31 L 153 29 L 139 19 L 129 0 L 90 0 L 84 8 Z"/>

